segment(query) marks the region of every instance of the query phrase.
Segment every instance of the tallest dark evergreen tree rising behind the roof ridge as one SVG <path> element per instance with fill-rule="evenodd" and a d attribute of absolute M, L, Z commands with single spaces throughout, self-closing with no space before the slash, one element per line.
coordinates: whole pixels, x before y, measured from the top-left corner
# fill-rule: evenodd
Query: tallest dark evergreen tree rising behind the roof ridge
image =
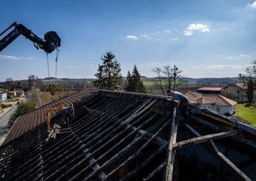
<path fill-rule="evenodd" d="M 114 90 L 116 85 L 122 84 L 120 64 L 111 52 L 106 52 L 100 59 L 103 64 L 99 64 L 98 72 L 95 73 L 97 80 L 93 81 L 93 85 L 99 89 Z"/>

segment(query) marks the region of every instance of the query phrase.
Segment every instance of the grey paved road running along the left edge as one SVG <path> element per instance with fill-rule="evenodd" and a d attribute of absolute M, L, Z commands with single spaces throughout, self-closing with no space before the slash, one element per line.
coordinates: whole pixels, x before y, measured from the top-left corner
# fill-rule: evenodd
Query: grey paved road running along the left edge
<path fill-rule="evenodd" d="M 29 99 L 31 99 L 34 93 L 35 93 L 35 90 L 31 91 L 21 101 L 28 101 Z M 5 134 L 8 131 L 8 120 L 10 119 L 10 116 L 12 115 L 12 113 L 15 111 L 16 108 L 17 108 L 17 105 L 14 105 L 12 108 L 10 108 L 10 110 L 8 110 L 8 112 L 4 113 L 4 115 L 0 117 L 0 145 L 1 143 L 3 143 L 4 136 L 6 136 Z"/>

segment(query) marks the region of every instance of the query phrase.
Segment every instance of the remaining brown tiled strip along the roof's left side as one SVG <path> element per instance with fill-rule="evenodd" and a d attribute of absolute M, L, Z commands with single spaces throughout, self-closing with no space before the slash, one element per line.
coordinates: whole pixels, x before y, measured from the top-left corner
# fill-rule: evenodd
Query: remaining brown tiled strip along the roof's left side
<path fill-rule="evenodd" d="M 97 92 L 97 89 L 84 89 L 83 91 L 75 92 L 74 94 L 70 94 L 65 98 L 60 99 L 62 106 L 68 106 L 70 103 L 77 103 L 77 101 L 81 101 L 81 99 L 88 98 L 92 94 Z M 13 124 L 12 129 L 7 134 L 2 145 L 18 138 L 24 133 L 27 133 L 29 130 L 35 128 L 36 126 L 42 124 L 46 121 L 45 110 L 51 108 L 52 106 L 56 106 L 58 103 L 56 101 L 49 103 L 48 105 L 42 106 L 33 110 L 32 112 L 26 113 L 25 115 L 20 116 L 15 124 Z M 57 112 L 50 113 L 50 119 L 54 117 Z"/>

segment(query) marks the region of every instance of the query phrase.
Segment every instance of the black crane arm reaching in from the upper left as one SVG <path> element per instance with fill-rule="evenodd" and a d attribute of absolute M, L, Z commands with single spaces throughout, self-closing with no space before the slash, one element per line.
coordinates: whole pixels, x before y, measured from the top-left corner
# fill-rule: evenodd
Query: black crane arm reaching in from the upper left
<path fill-rule="evenodd" d="M 1 33 L 0 36 L 13 26 L 15 27 L 15 29 L 13 29 L 13 31 L 11 31 L 2 40 L 0 40 L 0 52 L 5 47 L 7 47 L 10 43 L 12 43 L 12 41 L 15 40 L 20 34 L 22 34 L 29 40 L 33 41 L 37 49 L 41 48 L 47 53 L 51 53 L 61 45 L 60 44 L 61 39 L 55 31 L 49 31 L 45 33 L 44 40 L 42 40 L 41 38 L 36 36 L 34 33 L 32 33 L 32 31 L 26 28 L 24 25 L 17 24 L 16 22 L 14 22 L 12 25 L 10 25 L 10 27 L 8 27 L 5 31 L 3 31 L 3 33 Z"/>

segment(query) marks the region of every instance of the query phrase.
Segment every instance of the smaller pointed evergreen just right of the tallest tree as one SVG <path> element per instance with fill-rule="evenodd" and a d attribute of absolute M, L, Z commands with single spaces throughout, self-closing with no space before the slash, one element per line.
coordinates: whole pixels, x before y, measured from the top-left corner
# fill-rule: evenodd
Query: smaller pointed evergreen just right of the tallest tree
<path fill-rule="evenodd" d="M 127 80 L 125 82 L 124 89 L 125 89 L 125 91 L 129 91 L 129 92 L 147 93 L 146 88 L 140 79 L 140 73 L 139 73 L 136 65 L 134 65 L 132 75 L 128 71 Z"/>

